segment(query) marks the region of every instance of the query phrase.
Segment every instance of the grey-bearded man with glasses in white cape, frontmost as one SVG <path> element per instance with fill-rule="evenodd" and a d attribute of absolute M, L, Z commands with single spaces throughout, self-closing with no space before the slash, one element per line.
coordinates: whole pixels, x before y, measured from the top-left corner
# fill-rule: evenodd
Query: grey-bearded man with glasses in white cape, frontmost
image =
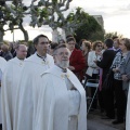
<path fill-rule="evenodd" d="M 55 65 L 37 80 L 39 99 L 32 130 L 87 130 L 86 92 L 67 69 L 69 55 L 65 44 L 58 46 Z"/>

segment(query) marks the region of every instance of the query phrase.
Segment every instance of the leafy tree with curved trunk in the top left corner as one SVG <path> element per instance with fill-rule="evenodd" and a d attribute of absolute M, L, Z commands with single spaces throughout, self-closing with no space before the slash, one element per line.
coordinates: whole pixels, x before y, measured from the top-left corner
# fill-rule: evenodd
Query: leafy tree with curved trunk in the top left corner
<path fill-rule="evenodd" d="M 23 26 L 23 18 L 25 17 L 26 10 L 27 9 L 23 5 L 22 0 L 12 0 L 11 5 L 8 5 L 5 2 L 4 4 L 0 4 L 0 12 L 2 14 L 0 17 L 0 30 L 2 37 L 6 30 L 13 32 L 14 29 L 21 29 L 24 34 L 25 41 L 28 41 L 28 32 Z M 3 29 L 4 25 L 9 25 L 9 28 Z"/>

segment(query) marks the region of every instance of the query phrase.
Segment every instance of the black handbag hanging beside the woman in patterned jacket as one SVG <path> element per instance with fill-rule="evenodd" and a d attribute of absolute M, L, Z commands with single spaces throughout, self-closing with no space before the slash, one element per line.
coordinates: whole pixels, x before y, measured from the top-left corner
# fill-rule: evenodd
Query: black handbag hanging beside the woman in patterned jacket
<path fill-rule="evenodd" d="M 112 90 L 114 83 L 114 72 L 109 69 L 108 74 L 106 75 L 106 78 L 103 82 L 103 89 L 105 90 Z"/>

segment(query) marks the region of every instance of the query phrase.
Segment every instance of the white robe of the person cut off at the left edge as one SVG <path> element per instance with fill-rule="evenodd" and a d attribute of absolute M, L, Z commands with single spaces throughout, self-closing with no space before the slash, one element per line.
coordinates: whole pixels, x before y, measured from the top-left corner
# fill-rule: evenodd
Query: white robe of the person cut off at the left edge
<path fill-rule="evenodd" d="M 5 67 L 6 67 L 6 61 L 3 57 L 0 57 L 0 81 Z M 0 123 L 2 123 L 1 105 L 2 104 L 1 104 L 1 87 L 0 87 Z"/>

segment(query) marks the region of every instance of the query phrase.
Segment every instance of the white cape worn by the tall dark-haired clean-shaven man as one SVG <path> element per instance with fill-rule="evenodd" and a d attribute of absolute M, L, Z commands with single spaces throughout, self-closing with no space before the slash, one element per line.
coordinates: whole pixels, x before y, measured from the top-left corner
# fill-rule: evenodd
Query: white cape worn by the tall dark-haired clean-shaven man
<path fill-rule="evenodd" d="M 46 61 L 37 56 L 37 54 L 31 55 L 25 61 L 18 84 L 20 94 L 16 105 L 18 116 L 16 117 L 17 126 L 15 130 L 32 130 L 36 107 L 36 105 L 34 105 L 34 100 L 36 100 L 36 98 L 32 99 L 32 94 L 36 92 L 32 89 L 32 82 L 37 81 L 37 76 L 39 76 L 41 72 L 46 72 L 53 65 L 53 57 L 49 54 L 47 54 Z M 32 78 L 34 76 L 36 76 L 36 79 Z"/>

